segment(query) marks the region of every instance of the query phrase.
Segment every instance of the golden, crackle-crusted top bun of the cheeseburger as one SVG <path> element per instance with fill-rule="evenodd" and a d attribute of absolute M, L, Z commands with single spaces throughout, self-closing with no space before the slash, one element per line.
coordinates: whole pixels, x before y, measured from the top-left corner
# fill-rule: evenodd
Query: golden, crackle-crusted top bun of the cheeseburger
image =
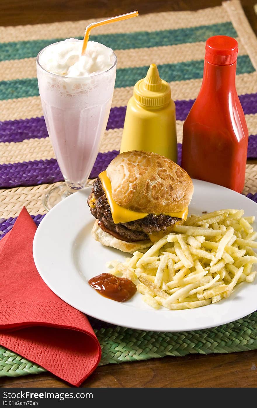
<path fill-rule="evenodd" d="M 116 156 L 106 169 L 114 201 L 141 213 L 173 213 L 190 204 L 194 186 L 188 173 L 167 157 L 144 151 Z"/>

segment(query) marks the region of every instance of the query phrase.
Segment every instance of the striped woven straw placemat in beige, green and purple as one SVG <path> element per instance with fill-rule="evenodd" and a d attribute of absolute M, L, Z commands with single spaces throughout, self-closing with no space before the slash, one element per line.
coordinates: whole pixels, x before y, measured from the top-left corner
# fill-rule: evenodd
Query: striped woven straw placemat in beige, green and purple
<path fill-rule="evenodd" d="M 0 27 L 0 238 L 10 231 L 23 205 L 38 225 L 45 214 L 42 196 L 50 185 L 63 180 L 42 118 L 35 56 L 57 39 L 78 38 L 91 21 Z M 118 70 L 110 118 L 91 178 L 118 154 L 127 101 L 152 62 L 170 82 L 181 143 L 183 121 L 201 86 L 204 42 L 217 34 L 231 35 L 239 43 L 237 91 L 250 134 L 248 158 L 257 158 L 257 40 L 240 3 L 232 0 L 211 9 L 154 13 L 96 29 L 92 39 L 115 50 Z M 256 201 L 256 192 L 257 164 L 248 164 L 244 194 Z M 102 346 L 101 365 L 257 348 L 257 313 L 186 333 L 145 332 L 90 321 Z M 43 371 L 0 346 L 0 376 Z"/>

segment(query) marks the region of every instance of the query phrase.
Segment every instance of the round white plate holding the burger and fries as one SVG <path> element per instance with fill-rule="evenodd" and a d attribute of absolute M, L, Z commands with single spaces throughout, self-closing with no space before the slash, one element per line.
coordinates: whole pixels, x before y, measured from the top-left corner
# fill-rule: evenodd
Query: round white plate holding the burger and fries
<path fill-rule="evenodd" d="M 257 204 L 228 188 L 194 182 L 190 213 L 221 208 L 243 208 L 257 217 Z M 219 326 L 257 309 L 257 282 L 242 283 L 228 298 L 189 310 L 154 310 L 136 293 L 125 303 L 107 299 L 88 280 L 107 272 L 106 262 L 123 261 L 126 254 L 102 246 L 91 237 L 94 217 L 87 206 L 91 189 L 74 193 L 57 204 L 40 222 L 33 243 L 36 267 L 42 279 L 61 299 L 89 316 L 140 330 L 186 331 Z M 256 229 L 256 225 L 254 226 Z"/>

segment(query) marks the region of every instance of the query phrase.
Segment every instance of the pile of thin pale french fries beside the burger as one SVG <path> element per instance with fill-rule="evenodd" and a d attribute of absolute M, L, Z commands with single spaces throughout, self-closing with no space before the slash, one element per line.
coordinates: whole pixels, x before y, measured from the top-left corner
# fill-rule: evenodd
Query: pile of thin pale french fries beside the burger
<path fill-rule="evenodd" d="M 253 282 L 257 263 L 255 217 L 226 209 L 191 215 L 184 225 L 150 249 L 125 262 L 112 261 L 110 273 L 131 279 L 155 309 L 181 310 L 227 298 L 240 282 Z"/>

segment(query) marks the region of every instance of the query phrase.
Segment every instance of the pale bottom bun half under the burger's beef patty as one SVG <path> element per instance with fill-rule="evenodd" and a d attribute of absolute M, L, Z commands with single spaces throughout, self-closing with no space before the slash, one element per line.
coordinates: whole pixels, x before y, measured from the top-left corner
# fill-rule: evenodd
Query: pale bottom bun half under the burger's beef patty
<path fill-rule="evenodd" d="M 101 244 L 105 246 L 111 246 L 112 248 L 120 249 L 123 252 L 130 252 L 133 253 L 135 251 L 139 251 L 140 249 L 149 248 L 153 244 L 150 239 L 146 239 L 145 241 L 137 241 L 137 242 L 125 242 L 121 239 L 117 239 L 113 237 L 111 234 L 103 231 L 101 227 L 98 225 L 98 220 L 94 223 L 92 228 L 92 237 L 101 242 Z"/>

